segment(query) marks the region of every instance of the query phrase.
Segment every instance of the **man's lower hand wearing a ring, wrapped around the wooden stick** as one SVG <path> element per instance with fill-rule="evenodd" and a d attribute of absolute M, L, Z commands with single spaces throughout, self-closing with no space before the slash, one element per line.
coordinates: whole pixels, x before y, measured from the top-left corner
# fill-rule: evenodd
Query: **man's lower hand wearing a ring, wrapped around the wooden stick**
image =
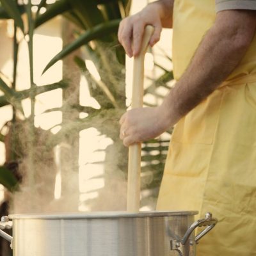
<path fill-rule="evenodd" d="M 120 139 L 125 146 L 156 138 L 170 127 L 170 120 L 161 106 L 157 108 L 135 108 L 120 119 Z"/>

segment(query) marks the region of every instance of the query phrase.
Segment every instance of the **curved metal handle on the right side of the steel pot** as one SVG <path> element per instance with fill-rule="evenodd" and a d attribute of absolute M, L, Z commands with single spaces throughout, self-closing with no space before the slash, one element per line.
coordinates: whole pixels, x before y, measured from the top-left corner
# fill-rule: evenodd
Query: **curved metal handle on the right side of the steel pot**
<path fill-rule="evenodd" d="M 184 235 L 184 237 L 180 240 L 181 244 L 186 244 L 190 235 L 192 234 L 192 232 L 195 230 L 195 228 L 197 227 L 205 227 L 207 226 L 204 230 L 202 230 L 202 232 L 200 232 L 196 237 L 195 237 L 195 242 L 198 243 L 198 241 L 205 236 L 205 234 L 207 234 L 210 230 L 212 230 L 212 228 L 214 228 L 214 226 L 217 224 L 218 220 L 216 218 L 212 218 L 212 214 L 211 212 L 207 212 L 205 214 L 205 218 L 204 219 L 200 219 L 195 221 L 187 230 L 186 234 Z"/>

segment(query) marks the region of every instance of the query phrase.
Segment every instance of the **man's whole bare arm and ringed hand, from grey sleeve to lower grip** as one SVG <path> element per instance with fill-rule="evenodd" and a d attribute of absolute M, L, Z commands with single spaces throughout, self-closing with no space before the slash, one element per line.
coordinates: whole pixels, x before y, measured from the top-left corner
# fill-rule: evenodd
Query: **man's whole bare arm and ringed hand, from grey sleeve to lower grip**
<path fill-rule="evenodd" d="M 155 138 L 195 108 L 232 73 L 253 40 L 253 11 L 219 12 L 186 72 L 157 108 L 132 109 L 120 120 L 124 145 Z"/>

